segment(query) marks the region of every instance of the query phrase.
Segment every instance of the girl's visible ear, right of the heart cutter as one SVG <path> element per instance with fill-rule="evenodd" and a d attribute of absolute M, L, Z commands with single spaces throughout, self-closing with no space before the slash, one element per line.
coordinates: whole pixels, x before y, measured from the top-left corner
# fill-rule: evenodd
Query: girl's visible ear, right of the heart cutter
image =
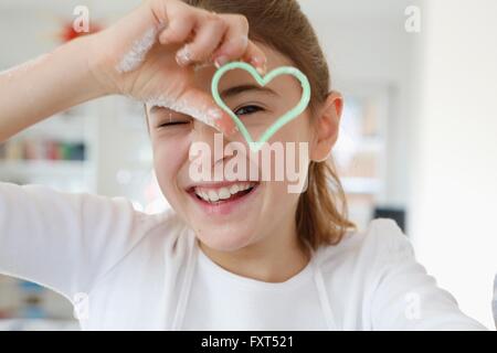
<path fill-rule="evenodd" d="M 338 139 L 343 97 L 338 92 L 330 92 L 328 98 L 318 111 L 315 122 L 315 139 L 310 151 L 310 159 L 322 162 L 331 154 L 331 149 Z"/>

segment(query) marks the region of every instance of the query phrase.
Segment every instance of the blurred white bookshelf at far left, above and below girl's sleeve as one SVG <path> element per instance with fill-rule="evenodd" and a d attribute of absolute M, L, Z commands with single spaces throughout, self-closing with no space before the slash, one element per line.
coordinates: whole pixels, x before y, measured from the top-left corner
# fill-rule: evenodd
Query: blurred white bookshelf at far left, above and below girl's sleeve
<path fill-rule="evenodd" d="M 85 104 L 0 145 L 0 180 L 64 192 L 96 191 L 96 110 Z M 71 302 L 46 288 L 0 276 L 0 330 L 78 330 Z"/>

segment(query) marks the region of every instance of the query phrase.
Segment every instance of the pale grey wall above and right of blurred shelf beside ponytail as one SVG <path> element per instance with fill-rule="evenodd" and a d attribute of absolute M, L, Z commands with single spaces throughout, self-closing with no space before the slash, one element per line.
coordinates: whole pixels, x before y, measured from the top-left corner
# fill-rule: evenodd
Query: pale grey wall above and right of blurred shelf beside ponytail
<path fill-rule="evenodd" d="M 300 1 L 327 54 L 334 89 L 371 85 L 384 86 L 390 92 L 387 190 L 380 201 L 398 206 L 405 206 L 408 202 L 410 98 L 415 39 L 404 30 L 404 10 L 416 2 Z"/>

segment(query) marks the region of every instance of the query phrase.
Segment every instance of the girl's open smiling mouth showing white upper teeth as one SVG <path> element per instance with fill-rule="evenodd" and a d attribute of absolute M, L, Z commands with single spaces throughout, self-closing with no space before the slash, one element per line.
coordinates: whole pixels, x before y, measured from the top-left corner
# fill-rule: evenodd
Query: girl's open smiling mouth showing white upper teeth
<path fill-rule="evenodd" d="M 188 192 L 200 202 L 220 205 L 248 195 L 258 185 L 257 182 L 234 182 L 223 186 L 192 186 Z"/>

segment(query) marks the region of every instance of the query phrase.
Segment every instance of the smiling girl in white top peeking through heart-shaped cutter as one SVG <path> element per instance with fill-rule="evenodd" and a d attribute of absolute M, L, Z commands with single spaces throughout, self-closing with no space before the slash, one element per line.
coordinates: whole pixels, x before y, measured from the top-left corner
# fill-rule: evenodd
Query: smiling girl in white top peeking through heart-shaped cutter
<path fill-rule="evenodd" d="M 215 66 L 229 61 L 307 75 L 308 109 L 271 139 L 308 145 L 302 194 L 287 192 L 288 180 L 191 178 L 193 143 L 212 147 L 219 130 L 246 145 L 210 96 Z M 86 330 L 484 329 L 436 287 L 393 222 L 357 232 L 347 218 L 326 162 L 342 108 L 329 85 L 295 0 L 146 1 L 104 32 L 1 74 L 0 140 L 101 96 L 144 101 L 173 211 L 151 216 L 119 197 L 0 183 L 0 272 L 61 292 Z M 253 136 L 302 95 L 290 76 L 258 87 L 240 71 L 220 92 Z M 214 154 L 211 168 L 232 158 Z"/>

